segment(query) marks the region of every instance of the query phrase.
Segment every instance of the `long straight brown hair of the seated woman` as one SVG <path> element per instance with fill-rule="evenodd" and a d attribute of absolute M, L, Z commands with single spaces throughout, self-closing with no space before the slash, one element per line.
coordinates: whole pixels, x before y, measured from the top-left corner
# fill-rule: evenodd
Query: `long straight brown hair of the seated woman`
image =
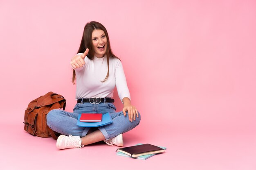
<path fill-rule="evenodd" d="M 109 76 L 109 57 L 115 57 L 117 59 L 119 59 L 118 57 L 116 57 L 110 47 L 110 41 L 109 41 L 109 37 L 108 37 L 108 31 L 106 30 L 105 26 L 103 26 L 101 23 L 96 22 L 96 21 L 92 21 L 92 22 L 88 22 L 83 30 L 83 37 L 81 40 L 81 44 L 79 47 L 79 50 L 77 51 L 77 53 L 84 53 L 86 48 L 89 49 L 89 52 L 87 54 L 87 57 L 89 59 L 93 59 L 94 58 L 94 49 L 93 49 L 93 45 L 92 45 L 92 31 L 94 30 L 102 30 L 104 31 L 106 37 L 107 37 L 107 41 L 108 41 L 108 45 L 106 48 L 106 56 L 107 56 L 107 63 L 108 63 L 108 73 L 106 78 L 102 81 L 105 82 L 106 80 L 108 80 L 108 76 Z M 72 78 L 72 83 L 75 84 L 76 81 L 76 72 L 75 70 L 73 70 L 73 78 Z"/>

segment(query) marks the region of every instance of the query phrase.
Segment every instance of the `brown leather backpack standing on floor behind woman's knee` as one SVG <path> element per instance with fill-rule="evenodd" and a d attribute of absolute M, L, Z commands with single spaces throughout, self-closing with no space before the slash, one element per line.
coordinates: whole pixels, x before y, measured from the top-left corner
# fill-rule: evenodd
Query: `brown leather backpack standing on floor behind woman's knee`
<path fill-rule="evenodd" d="M 57 136 L 60 134 L 52 131 L 47 126 L 46 116 L 52 109 L 63 108 L 65 110 L 65 106 L 66 99 L 54 92 L 48 92 L 44 96 L 32 100 L 25 110 L 24 130 L 39 137 L 53 137 L 57 139 Z"/>

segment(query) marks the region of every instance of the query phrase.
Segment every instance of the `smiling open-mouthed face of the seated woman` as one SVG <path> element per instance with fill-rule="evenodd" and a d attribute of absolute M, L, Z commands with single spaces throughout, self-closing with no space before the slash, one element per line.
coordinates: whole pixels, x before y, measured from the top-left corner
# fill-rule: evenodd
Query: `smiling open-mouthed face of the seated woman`
<path fill-rule="evenodd" d="M 108 39 L 104 31 L 99 29 L 92 31 L 92 46 L 95 57 L 101 58 L 105 55 L 108 46 Z"/>

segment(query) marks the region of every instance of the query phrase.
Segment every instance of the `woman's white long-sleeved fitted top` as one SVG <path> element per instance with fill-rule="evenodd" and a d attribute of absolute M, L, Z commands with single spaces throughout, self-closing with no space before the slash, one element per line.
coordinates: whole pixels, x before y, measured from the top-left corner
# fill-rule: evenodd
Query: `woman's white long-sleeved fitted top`
<path fill-rule="evenodd" d="M 77 55 L 80 55 L 79 53 Z M 112 98 L 114 88 L 120 100 L 124 97 L 130 98 L 130 92 L 126 83 L 126 77 L 121 61 L 114 57 L 109 57 L 109 77 L 102 82 L 108 73 L 107 57 L 94 57 L 84 59 L 85 65 L 82 68 L 74 69 L 76 72 L 76 100 L 79 98 L 109 97 Z"/>

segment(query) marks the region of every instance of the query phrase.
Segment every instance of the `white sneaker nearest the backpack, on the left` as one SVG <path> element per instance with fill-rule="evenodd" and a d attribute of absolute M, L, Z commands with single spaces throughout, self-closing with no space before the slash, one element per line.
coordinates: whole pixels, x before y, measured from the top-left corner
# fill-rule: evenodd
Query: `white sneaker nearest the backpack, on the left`
<path fill-rule="evenodd" d="M 66 148 L 82 148 L 81 146 L 82 140 L 80 136 L 66 136 L 60 135 L 57 139 L 56 146 L 58 149 L 66 149 Z"/>

